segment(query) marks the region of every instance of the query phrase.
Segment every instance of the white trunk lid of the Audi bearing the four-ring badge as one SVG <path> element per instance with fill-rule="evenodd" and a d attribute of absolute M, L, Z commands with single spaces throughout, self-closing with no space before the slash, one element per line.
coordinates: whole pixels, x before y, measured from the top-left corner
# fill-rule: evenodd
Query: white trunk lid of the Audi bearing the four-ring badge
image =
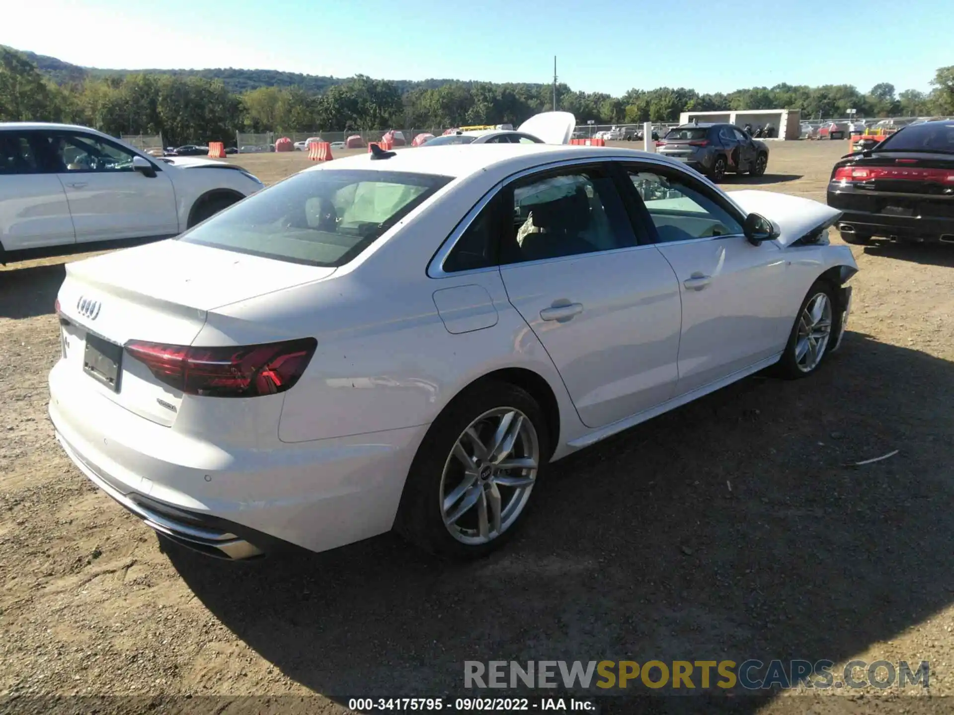
<path fill-rule="evenodd" d="M 68 263 L 58 295 L 65 369 L 87 389 L 170 426 L 181 393 L 123 345 L 191 345 L 215 308 L 334 271 L 176 240 Z"/>

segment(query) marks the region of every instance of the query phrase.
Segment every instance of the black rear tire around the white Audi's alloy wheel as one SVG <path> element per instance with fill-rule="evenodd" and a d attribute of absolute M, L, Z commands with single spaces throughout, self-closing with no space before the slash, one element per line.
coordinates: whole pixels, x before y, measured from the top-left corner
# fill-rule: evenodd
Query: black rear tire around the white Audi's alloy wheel
<path fill-rule="evenodd" d="M 445 469 L 448 466 L 452 468 L 452 460 L 455 459 L 454 447 L 468 426 L 487 412 L 498 408 L 518 410 L 529 420 L 537 438 L 538 467 L 533 485 L 529 488 L 528 498 L 517 510 L 514 521 L 504 524 L 502 533 L 492 537 L 490 541 L 465 543 L 451 534 L 452 527 L 445 525 L 441 506 L 444 498 Z M 539 489 L 537 482 L 545 471 L 549 457 L 550 435 L 543 410 L 537 401 L 526 390 L 507 382 L 487 380 L 478 383 L 454 398 L 427 431 L 404 483 L 394 530 L 407 541 L 439 556 L 459 560 L 487 556 L 509 541 L 525 521 L 533 502 L 533 492 Z M 508 487 L 505 487 L 505 490 L 508 490 Z M 516 491 L 513 490 L 513 495 Z M 504 496 L 505 500 L 507 496 Z M 504 510 L 506 511 L 506 506 Z M 477 511 L 477 507 L 470 511 Z M 461 521 L 463 520 L 462 517 Z"/>

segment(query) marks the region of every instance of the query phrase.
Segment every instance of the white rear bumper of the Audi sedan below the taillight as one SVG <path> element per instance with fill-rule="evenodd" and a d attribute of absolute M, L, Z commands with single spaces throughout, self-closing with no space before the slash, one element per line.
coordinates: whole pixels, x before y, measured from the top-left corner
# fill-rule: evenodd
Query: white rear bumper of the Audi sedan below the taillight
<path fill-rule="evenodd" d="M 427 428 L 222 446 L 137 417 L 65 367 L 50 375 L 50 418 L 73 463 L 157 532 L 227 559 L 388 531 Z"/>

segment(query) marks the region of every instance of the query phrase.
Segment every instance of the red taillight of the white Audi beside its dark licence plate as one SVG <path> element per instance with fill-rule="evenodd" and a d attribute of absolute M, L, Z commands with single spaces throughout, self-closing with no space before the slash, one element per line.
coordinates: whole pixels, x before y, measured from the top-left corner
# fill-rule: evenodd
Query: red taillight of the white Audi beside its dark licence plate
<path fill-rule="evenodd" d="M 314 337 L 222 348 L 130 340 L 126 352 L 187 395 L 256 398 L 294 387 L 317 346 Z"/>

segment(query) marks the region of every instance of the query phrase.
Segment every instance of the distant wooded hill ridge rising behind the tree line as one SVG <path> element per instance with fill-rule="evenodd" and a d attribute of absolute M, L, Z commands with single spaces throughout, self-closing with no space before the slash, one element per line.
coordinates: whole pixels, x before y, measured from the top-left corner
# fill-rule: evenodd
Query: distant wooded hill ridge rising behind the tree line
<path fill-rule="evenodd" d="M 305 92 L 324 92 L 329 87 L 342 84 L 347 77 L 328 77 L 320 74 L 301 74 L 299 72 L 280 72 L 279 70 L 237 70 L 235 68 L 216 68 L 214 70 L 102 70 L 94 67 L 80 67 L 69 62 L 49 57 L 45 54 L 22 51 L 40 72 L 57 84 L 82 82 L 87 77 L 106 77 L 123 74 L 172 74 L 179 77 L 203 77 L 220 79 L 231 92 L 248 92 L 259 87 L 300 87 Z M 407 79 L 391 80 L 402 93 L 411 90 L 436 90 L 453 79 L 425 79 L 413 81 Z M 469 86 L 473 81 L 464 82 Z M 529 85 L 536 87 L 538 85 Z M 542 86 L 542 85 L 540 85 Z"/>

